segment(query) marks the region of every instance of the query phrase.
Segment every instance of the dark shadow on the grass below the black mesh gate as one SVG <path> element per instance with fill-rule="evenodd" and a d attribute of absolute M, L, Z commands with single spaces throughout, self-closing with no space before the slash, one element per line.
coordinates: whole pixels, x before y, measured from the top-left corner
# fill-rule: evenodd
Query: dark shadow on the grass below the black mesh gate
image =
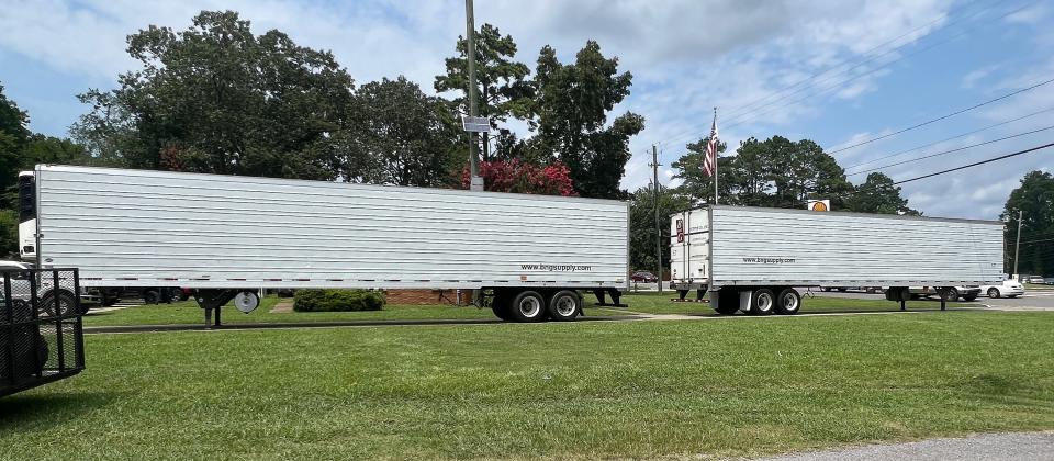
<path fill-rule="evenodd" d="M 115 392 L 23 393 L 0 397 L 0 432 L 76 419 L 120 397 Z"/>

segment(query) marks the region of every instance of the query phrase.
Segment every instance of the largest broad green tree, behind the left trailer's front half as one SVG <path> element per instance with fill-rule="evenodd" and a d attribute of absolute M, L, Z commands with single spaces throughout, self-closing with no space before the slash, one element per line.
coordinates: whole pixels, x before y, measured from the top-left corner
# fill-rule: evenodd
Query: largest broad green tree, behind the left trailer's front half
<path fill-rule="evenodd" d="M 74 128 L 111 165 L 334 179 L 319 143 L 348 127 L 351 77 L 332 53 L 279 31 L 256 36 L 232 11 L 204 11 L 190 29 L 128 36 L 141 68 L 91 105 Z M 303 165 L 313 167 L 304 168 Z M 322 168 L 330 167 L 330 168 Z"/>

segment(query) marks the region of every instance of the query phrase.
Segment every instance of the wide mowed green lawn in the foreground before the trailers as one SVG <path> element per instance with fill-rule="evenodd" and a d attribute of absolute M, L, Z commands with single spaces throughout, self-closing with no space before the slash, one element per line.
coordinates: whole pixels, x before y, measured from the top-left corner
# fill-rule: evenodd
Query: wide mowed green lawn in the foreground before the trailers
<path fill-rule="evenodd" d="M 1054 315 L 92 335 L 0 459 L 646 458 L 1054 428 Z"/>

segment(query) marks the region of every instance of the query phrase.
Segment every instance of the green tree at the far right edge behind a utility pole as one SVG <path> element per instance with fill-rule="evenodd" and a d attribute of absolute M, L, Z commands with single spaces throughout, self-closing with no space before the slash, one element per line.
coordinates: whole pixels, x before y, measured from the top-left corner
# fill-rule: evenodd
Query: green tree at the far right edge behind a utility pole
<path fill-rule="evenodd" d="M 1020 273 L 1054 276 L 1054 176 L 1040 170 L 1024 175 L 1021 185 L 1010 192 L 999 217 L 1007 223 L 1007 273 L 1013 271 L 1013 245 L 1020 226 Z"/>

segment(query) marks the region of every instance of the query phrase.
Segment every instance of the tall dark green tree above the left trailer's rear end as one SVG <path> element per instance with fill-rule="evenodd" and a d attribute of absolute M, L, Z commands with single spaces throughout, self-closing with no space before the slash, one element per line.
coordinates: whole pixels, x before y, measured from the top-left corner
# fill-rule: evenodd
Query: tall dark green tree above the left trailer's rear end
<path fill-rule="evenodd" d="M 582 196 L 624 198 L 619 181 L 629 160 L 629 138 L 644 128 L 644 117 L 627 112 L 607 124 L 608 112 L 629 94 L 632 75 L 618 74 L 618 58 L 586 42 L 573 64 L 561 64 L 545 46 L 538 57 L 535 88 L 538 142 L 571 169 Z"/>

